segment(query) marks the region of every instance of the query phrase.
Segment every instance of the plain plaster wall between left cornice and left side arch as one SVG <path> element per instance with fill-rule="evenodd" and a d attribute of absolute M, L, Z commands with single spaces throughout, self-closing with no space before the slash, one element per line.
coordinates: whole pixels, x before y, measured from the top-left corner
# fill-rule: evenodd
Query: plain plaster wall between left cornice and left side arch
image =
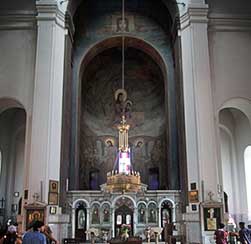
<path fill-rule="evenodd" d="M 0 98 L 19 101 L 28 113 L 32 110 L 35 30 L 0 28 Z"/>

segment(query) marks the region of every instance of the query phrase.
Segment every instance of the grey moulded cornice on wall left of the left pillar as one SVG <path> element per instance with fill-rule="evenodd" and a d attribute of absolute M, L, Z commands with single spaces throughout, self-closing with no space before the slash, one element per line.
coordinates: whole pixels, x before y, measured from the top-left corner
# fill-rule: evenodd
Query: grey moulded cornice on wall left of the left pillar
<path fill-rule="evenodd" d="M 0 11 L 0 30 L 35 29 L 36 13 L 33 11 Z"/>

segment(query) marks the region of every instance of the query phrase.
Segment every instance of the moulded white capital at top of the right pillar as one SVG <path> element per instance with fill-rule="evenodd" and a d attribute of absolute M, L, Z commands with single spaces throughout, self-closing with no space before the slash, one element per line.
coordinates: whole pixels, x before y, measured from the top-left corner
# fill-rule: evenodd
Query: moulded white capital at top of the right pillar
<path fill-rule="evenodd" d="M 208 5 L 190 4 L 187 11 L 180 17 L 181 30 L 187 28 L 192 23 L 208 23 Z"/>

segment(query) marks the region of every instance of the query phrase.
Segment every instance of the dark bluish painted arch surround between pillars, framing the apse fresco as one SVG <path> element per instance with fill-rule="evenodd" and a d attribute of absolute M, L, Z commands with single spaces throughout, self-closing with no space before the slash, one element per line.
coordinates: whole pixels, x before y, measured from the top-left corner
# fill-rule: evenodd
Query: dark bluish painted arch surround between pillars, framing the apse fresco
<path fill-rule="evenodd" d="M 70 143 L 70 189 L 79 189 L 81 179 L 76 173 L 76 169 L 82 164 L 81 161 L 81 98 L 82 93 L 82 77 L 86 70 L 86 66 L 102 52 L 108 49 L 121 47 L 121 32 L 119 29 L 119 19 L 121 19 L 121 2 L 110 0 L 103 2 L 96 1 L 71 1 L 69 3 L 69 11 L 74 14 L 73 20 L 75 25 L 75 35 L 72 53 L 69 55 L 69 63 L 72 63 L 72 111 L 71 111 L 71 143 Z M 170 162 L 167 167 L 168 177 L 172 178 L 169 186 L 160 183 L 158 189 L 178 190 L 180 187 L 186 191 L 186 170 L 180 170 L 179 163 L 186 164 L 184 158 L 184 143 L 182 141 L 182 100 L 179 96 L 182 94 L 180 90 L 180 81 L 175 81 L 175 73 L 179 72 L 179 57 L 175 49 L 177 40 L 176 17 L 178 8 L 176 4 L 169 4 L 166 1 L 140 0 L 137 2 L 129 1 L 125 6 L 126 22 L 126 47 L 139 49 L 149 55 L 156 64 L 158 64 L 164 79 L 165 99 L 165 116 L 169 113 L 171 116 L 166 118 L 166 141 L 172 145 L 168 155 Z M 155 33 L 151 35 L 150 33 Z M 177 54 L 177 55 L 176 55 Z M 70 57 L 71 56 L 71 57 Z M 119 55 L 121 56 L 121 55 Z M 177 56 L 177 57 L 174 57 Z M 174 58 L 177 60 L 175 61 Z M 71 61 L 70 61 L 71 60 Z M 174 64 L 175 63 L 175 64 Z M 167 67 L 168 72 L 167 72 Z M 167 77 L 168 76 L 168 77 Z M 177 76 L 178 77 L 178 76 Z M 168 82 L 167 82 L 168 79 Z M 179 78 L 177 78 L 179 79 Z M 167 84 L 168 83 L 168 84 Z M 171 85 L 170 85 L 171 84 Z M 169 86 L 170 87 L 167 87 Z M 176 91 L 176 88 L 178 91 Z M 177 100 L 176 100 L 177 96 Z M 177 112 L 178 111 L 178 112 Z M 178 119 L 178 116 L 181 119 Z M 179 118 L 180 118 L 179 117 Z M 172 131 L 170 130 L 172 127 Z M 178 132 L 180 130 L 180 132 Z M 169 134 L 168 134 L 169 132 Z M 181 135 L 181 136 L 180 136 Z M 180 138 L 178 138 L 180 136 Z M 178 148 L 180 147 L 180 148 Z M 154 167 L 153 167 L 154 168 Z M 174 172 L 175 171 L 175 172 Z M 179 174 L 182 174 L 180 182 Z M 160 174 L 164 171 L 160 168 Z M 174 175 L 172 177 L 171 175 Z M 147 182 L 148 183 L 148 182 Z M 80 189 L 88 188 L 85 183 Z"/>

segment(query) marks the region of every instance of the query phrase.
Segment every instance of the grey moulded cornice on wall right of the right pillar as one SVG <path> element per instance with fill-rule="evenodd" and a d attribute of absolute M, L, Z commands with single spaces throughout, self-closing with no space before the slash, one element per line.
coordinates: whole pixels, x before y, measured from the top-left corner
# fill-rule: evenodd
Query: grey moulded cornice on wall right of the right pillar
<path fill-rule="evenodd" d="M 241 14 L 210 13 L 209 31 L 251 31 L 251 16 Z"/>

